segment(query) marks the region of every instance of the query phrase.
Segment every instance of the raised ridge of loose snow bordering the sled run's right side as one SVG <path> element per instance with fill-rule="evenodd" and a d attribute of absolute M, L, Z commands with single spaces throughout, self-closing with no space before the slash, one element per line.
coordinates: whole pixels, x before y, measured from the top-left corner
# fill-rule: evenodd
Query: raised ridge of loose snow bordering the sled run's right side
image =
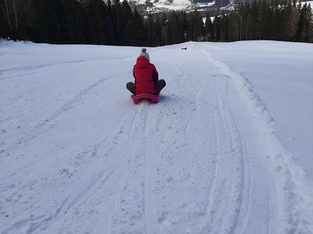
<path fill-rule="evenodd" d="M 268 157 L 275 171 L 282 171 L 276 180 L 278 201 L 280 201 L 280 210 L 288 216 L 281 215 L 285 224 L 280 233 L 290 233 L 294 231 L 295 225 L 300 227 L 307 226 L 310 220 L 313 220 L 313 200 L 310 199 L 313 194 L 313 181 L 309 180 L 305 171 L 294 160 L 288 150 L 281 144 L 275 134 L 272 121 L 274 120 L 268 113 L 268 108 L 256 93 L 254 86 L 248 78 L 233 71 L 226 63 L 213 59 L 206 51 L 209 61 L 219 67 L 225 76 L 230 77 L 238 86 L 239 93 L 245 104 L 254 115 L 255 122 L 258 124 L 261 132 L 260 138 L 267 148 Z M 288 204 L 286 206 L 286 204 Z M 307 228 L 301 228 L 299 232 L 308 232 L 313 230 L 313 225 Z"/>

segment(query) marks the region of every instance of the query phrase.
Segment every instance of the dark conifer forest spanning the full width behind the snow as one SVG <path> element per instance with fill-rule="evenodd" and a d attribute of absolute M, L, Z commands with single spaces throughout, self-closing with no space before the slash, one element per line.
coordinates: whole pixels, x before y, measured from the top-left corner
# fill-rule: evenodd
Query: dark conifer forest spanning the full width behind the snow
<path fill-rule="evenodd" d="M 186 41 L 313 41 L 312 8 L 293 0 L 240 3 L 205 22 L 199 11 L 139 14 L 127 0 L 0 0 L 0 37 L 50 44 L 165 46 Z"/>

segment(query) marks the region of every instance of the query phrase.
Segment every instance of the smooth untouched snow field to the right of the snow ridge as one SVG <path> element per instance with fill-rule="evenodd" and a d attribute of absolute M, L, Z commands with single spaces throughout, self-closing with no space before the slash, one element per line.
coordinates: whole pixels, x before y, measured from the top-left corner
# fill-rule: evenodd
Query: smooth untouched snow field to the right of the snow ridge
<path fill-rule="evenodd" d="M 313 45 L 254 41 L 214 43 L 214 58 L 249 78 L 274 118 L 280 141 L 313 179 Z M 296 63 L 296 65 L 295 65 Z"/>

